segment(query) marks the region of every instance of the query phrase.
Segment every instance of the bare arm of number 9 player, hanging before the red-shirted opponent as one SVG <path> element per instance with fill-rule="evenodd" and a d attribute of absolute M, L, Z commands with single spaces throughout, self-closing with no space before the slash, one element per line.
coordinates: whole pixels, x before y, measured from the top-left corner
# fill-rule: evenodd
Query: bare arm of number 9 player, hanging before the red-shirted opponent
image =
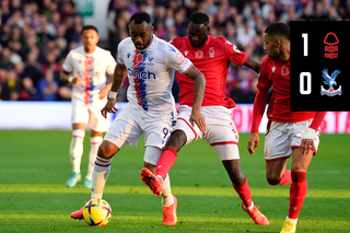
<path fill-rule="evenodd" d="M 200 112 L 201 103 L 205 97 L 206 78 L 195 66 L 191 66 L 191 68 L 185 74 L 189 79 L 194 80 L 194 84 L 195 84 L 195 100 L 192 105 L 192 112 L 189 117 L 189 123 L 192 126 L 195 126 L 195 123 L 196 123 L 200 131 L 202 131 L 206 135 L 207 133 L 206 120 Z"/>

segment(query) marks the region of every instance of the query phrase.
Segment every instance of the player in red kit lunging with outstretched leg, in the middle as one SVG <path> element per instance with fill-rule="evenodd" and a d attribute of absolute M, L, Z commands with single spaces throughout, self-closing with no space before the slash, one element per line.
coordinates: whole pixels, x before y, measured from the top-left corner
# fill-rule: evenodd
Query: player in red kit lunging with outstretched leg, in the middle
<path fill-rule="evenodd" d="M 260 65 L 225 38 L 210 36 L 208 24 L 207 14 L 195 12 L 189 18 L 188 36 L 176 37 L 171 42 L 206 77 L 201 112 L 206 119 L 207 131 L 200 131 L 189 117 L 195 91 L 192 81 L 176 72 L 176 80 L 180 89 L 178 125 L 158 162 L 156 175 L 148 168 L 142 168 L 141 178 L 154 195 L 161 195 L 162 182 L 174 165 L 177 152 L 194 140 L 205 139 L 220 156 L 234 189 L 243 201 L 243 210 L 255 223 L 268 225 L 268 219 L 254 206 L 247 179 L 241 172 L 238 132 L 232 119 L 232 108 L 235 103 L 224 95 L 230 62 L 240 67 L 244 65 L 257 73 Z"/>

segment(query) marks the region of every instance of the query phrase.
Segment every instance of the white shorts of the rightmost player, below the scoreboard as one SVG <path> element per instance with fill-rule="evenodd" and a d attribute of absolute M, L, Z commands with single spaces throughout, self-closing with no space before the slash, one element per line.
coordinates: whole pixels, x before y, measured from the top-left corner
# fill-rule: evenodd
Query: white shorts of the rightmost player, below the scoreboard
<path fill-rule="evenodd" d="M 302 135 L 311 125 L 312 119 L 300 123 L 277 123 L 270 121 L 265 137 L 265 160 L 272 162 L 284 160 L 291 156 L 292 149 L 299 149 L 302 142 Z M 314 137 L 314 154 L 319 144 L 319 130 Z"/>

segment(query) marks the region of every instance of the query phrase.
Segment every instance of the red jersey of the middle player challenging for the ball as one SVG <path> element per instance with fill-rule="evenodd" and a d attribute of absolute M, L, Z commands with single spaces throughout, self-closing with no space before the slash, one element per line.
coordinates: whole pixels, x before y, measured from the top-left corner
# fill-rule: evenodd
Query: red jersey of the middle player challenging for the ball
<path fill-rule="evenodd" d="M 232 98 L 224 95 L 230 61 L 242 67 L 248 55 L 223 37 L 208 35 L 205 45 L 195 48 L 188 37 L 176 37 L 173 44 L 195 67 L 206 77 L 206 92 L 202 106 L 220 105 L 234 107 Z M 195 98 L 194 81 L 179 72 L 176 80 L 180 89 L 178 95 L 180 105 L 192 106 Z"/>

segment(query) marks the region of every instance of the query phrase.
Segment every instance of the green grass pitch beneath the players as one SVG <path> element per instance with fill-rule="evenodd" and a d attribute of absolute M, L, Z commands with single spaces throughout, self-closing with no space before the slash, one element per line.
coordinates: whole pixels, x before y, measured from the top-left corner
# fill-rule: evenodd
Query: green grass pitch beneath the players
<path fill-rule="evenodd" d="M 89 133 L 82 175 L 86 174 Z M 0 232 L 279 232 L 289 208 L 289 187 L 268 185 L 262 158 L 264 136 L 256 155 L 247 153 L 248 135 L 241 135 L 242 171 L 253 200 L 270 221 L 255 225 L 213 148 L 200 140 L 186 145 L 171 171 L 178 199 L 178 224 L 162 225 L 161 198 L 140 179 L 143 140 L 114 159 L 104 191 L 113 209 L 110 222 L 89 226 L 70 219 L 90 199 L 79 183 L 66 187 L 71 165 L 71 131 L 0 131 Z M 298 232 L 350 232 L 349 135 L 322 135 L 318 154 L 307 173 L 308 191 Z M 289 163 L 290 166 L 290 163 Z"/>

